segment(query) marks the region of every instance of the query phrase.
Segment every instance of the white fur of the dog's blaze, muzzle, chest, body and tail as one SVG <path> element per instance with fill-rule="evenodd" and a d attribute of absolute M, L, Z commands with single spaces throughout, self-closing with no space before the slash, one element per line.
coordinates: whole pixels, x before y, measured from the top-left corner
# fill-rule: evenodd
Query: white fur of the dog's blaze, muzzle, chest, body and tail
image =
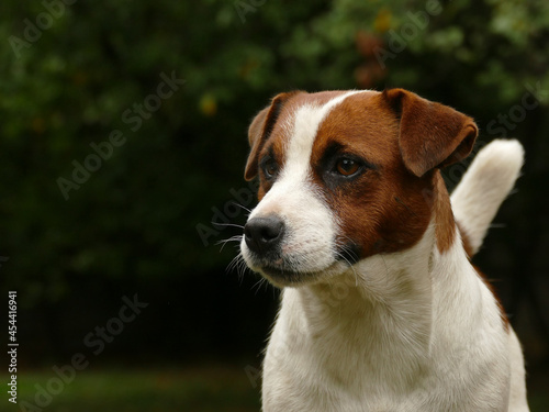
<path fill-rule="evenodd" d="M 293 269 L 322 275 L 282 291 L 264 364 L 264 412 L 528 411 L 518 341 L 458 237 L 440 254 L 432 222 L 405 252 L 350 268 L 335 260 L 338 222 L 310 183 L 309 164 L 318 125 L 346 97 L 296 111 L 284 170 L 250 214 L 281 216 Z M 517 144 L 484 149 L 452 198 L 477 248 L 516 178 L 492 180 L 492 194 L 480 198 L 495 148 L 522 158 Z M 473 204 L 482 204 L 480 216 Z M 260 270 L 245 242 L 242 252 Z"/>

